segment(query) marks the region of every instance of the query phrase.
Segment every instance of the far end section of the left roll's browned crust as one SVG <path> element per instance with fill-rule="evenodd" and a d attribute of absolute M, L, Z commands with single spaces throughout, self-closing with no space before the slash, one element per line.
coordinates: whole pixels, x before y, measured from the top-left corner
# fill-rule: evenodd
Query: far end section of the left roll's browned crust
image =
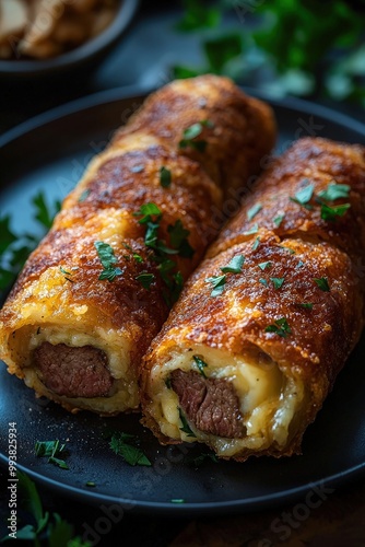
<path fill-rule="evenodd" d="M 203 152 L 180 147 L 184 130 L 209 120 L 195 139 L 207 143 Z M 227 191 L 246 185 L 260 171 L 275 142 L 276 127 L 272 109 L 245 95 L 227 78 L 203 75 L 178 80 L 151 95 L 117 132 L 150 130 L 179 153 L 197 160 L 215 183 Z"/>

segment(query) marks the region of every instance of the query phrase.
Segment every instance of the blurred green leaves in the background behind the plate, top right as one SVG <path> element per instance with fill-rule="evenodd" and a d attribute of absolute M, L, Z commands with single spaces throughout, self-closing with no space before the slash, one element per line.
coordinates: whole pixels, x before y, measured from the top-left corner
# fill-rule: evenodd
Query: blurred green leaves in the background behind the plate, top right
<path fill-rule="evenodd" d="M 176 78 L 213 72 L 276 95 L 329 96 L 365 106 L 365 0 L 182 4 L 176 28 L 199 33 L 204 65 L 174 67 Z"/>

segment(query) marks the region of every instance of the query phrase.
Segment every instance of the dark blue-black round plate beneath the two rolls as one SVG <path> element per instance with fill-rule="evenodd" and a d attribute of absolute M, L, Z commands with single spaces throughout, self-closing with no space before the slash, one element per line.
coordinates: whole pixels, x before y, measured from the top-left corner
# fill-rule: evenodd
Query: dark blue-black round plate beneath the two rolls
<path fill-rule="evenodd" d="M 38 117 L 0 139 L 1 213 L 17 231 L 34 231 L 30 200 L 43 189 L 63 198 L 95 152 L 141 103 L 134 91 L 103 93 Z M 365 143 L 365 126 L 301 101 L 271 102 L 280 128 L 279 151 L 294 139 L 317 135 Z M 90 503 L 121 503 L 137 511 L 203 514 L 247 511 L 306 500 L 311 489 L 329 489 L 365 475 L 365 338 L 354 351 L 316 422 L 305 434 L 303 456 L 251 458 L 245 464 L 193 458 L 201 446 L 163 447 L 138 415 L 99 418 L 68 414 L 0 368 L 0 462 L 7 466 L 9 422 L 16 422 L 17 463 L 35 480 Z M 131 467 L 108 447 L 107 429 L 137 434 L 152 467 Z M 36 440 L 67 441 L 69 470 L 34 455 Z M 95 487 L 86 487 L 94 481 Z M 325 490 L 323 490 L 325 488 Z M 328 490 L 326 490 L 326 488 Z M 317 489 L 317 490 L 316 490 Z M 185 503 L 172 500 L 184 499 Z"/>

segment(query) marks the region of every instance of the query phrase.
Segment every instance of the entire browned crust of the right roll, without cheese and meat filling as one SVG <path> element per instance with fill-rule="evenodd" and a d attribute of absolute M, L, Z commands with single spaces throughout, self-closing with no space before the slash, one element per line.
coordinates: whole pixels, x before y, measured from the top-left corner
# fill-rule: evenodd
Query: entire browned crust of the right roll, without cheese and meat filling
<path fill-rule="evenodd" d="M 350 208 L 331 221 L 321 218 L 321 203 L 316 199 L 330 183 L 350 186 L 349 197 L 334 203 L 346 202 Z M 291 199 L 309 184 L 314 190 L 305 203 L 309 207 Z M 190 347 L 222 350 L 232 360 L 256 348 L 276 363 L 285 379 L 298 381 L 305 395 L 285 445 L 248 447 L 231 457 L 245 461 L 250 455 L 279 457 L 301 452 L 303 434 L 364 325 L 360 267 L 365 248 L 364 190 L 361 146 L 306 138 L 272 162 L 190 277 L 145 357 L 144 423 L 162 442 L 176 439 L 162 435 L 151 411 L 150 371 L 157 363 L 176 360 Z M 255 206 L 259 207 L 254 214 Z M 280 222 L 274 221 L 278 217 Z M 212 295 L 211 279 L 222 276 L 222 268 L 237 256 L 244 257 L 242 271 L 226 272 L 221 294 Z M 286 324 L 278 333 L 280 319 Z"/>

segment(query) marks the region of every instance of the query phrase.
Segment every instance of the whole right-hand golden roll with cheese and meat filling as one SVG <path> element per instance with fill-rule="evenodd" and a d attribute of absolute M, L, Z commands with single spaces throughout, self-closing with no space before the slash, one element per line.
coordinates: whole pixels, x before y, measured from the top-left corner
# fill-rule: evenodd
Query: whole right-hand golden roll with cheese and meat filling
<path fill-rule="evenodd" d="M 365 149 L 303 139 L 275 160 L 152 344 L 144 423 L 224 458 L 301 452 L 364 317 Z"/>

